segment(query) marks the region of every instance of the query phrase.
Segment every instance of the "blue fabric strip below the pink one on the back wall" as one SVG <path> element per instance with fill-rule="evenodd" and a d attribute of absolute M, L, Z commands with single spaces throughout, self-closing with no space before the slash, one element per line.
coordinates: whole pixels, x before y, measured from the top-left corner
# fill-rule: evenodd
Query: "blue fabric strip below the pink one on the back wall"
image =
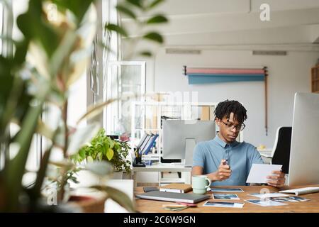
<path fill-rule="evenodd" d="M 258 76 L 225 76 L 225 75 L 193 75 L 189 74 L 189 84 L 211 84 L 223 82 L 264 81 L 264 74 Z"/>

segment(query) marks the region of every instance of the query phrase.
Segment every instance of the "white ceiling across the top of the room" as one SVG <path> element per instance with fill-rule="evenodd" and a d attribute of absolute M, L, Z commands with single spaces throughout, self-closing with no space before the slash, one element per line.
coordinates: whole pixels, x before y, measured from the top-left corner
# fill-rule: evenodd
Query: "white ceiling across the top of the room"
<path fill-rule="evenodd" d="M 259 18 L 264 3 L 270 21 Z M 167 47 L 319 50 L 318 0 L 167 0 L 156 12 L 169 18 L 152 28 Z M 122 23 L 138 36 L 129 18 Z"/>

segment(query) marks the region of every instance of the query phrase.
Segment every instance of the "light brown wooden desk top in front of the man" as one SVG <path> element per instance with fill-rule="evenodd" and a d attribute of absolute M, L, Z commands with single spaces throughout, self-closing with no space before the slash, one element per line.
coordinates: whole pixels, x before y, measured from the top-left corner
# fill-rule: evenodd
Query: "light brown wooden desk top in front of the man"
<path fill-rule="evenodd" d="M 235 187 L 235 186 L 232 186 Z M 303 186 L 301 186 L 303 187 Z M 283 189 L 293 189 L 301 187 L 284 187 Z M 312 187 L 312 186 L 305 186 Z M 313 187 L 318 187 L 318 185 L 313 185 Z M 238 208 L 220 208 L 220 207 L 207 207 L 203 204 L 207 201 L 201 201 L 198 203 L 198 207 L 187 208 L 183 211 L 167 211 L 162 209 L 162 204 L 174 204 L 174 202 L 169 201 L 155 201 L 147 199 L 135 199 L 136 209 L 140 212 L 147 213 L 286 213 L 286 212 L 295 212 L 295 213 L 319 213 L 319 193 L 313 194 L 304 194 L 301 197 L 310 199 L 310 201 L 298 201 L 298 202 L 285 202 L 288 205 L 284 206 L 257 206 L 250 204 L 244 199 L 258 199 L 257 197 L 250 196 L 250 193 L 259 193 L 261 189 L 269 189 L 269 192 L 278 192 L 279 190 L 274 187 L 269 186 L 240 186 L 245 192 L 236 193 L 240 200 L 235 200 L 237 202 L 245 202 L 245 205 L 242 209 Z M 141 194 L 142 187 L 135 188 L 135 194 Z M 212 192 L 207 192 L 212 194 Z M 294 196 L 294 194 L 291 194 Z M 213 199 L 209 199 L 213 201 Z M 216 201 L 225 201 L 225 200 L 216 200 Z M 228 200 L 229 201 L 229 200 Z"/>

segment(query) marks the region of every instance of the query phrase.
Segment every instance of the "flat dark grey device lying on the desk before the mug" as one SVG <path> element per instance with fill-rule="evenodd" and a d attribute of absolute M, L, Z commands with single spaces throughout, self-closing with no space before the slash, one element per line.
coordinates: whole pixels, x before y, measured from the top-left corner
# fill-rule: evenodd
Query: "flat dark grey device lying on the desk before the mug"
<path fill-rule="evenodd" d="M 194 193 L 176 193 L 176 192 L 159 192 L 152 191 L 138 194 L 136 197 L 140 199 L 152 199 L 160 201 L 178 201 L 189 204 L 196 204 L 205 199 L 210 199 L 210 194 L 194 194 Z"/>

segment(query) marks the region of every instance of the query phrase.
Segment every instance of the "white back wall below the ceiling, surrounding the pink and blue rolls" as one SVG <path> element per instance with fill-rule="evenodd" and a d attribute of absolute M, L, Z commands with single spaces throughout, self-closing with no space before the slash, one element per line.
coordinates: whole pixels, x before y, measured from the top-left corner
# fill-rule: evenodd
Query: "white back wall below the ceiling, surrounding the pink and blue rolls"
<path fill-rule="evenodd" d="M 286 56 L 256 56 L 248 50 L 203 50 L 201 55 L 167 55 L 157 52 L 154 74 L 147 74 L 147 90 L 155 92 L 198 92 L 198 101 L 240 101 L 247 109 L 246 142 L 272 148 L 276 128 L 291 126 L 293 94 L 310 91 L 310 67 L 315 65 L 318 52 L 289 51 Z M 264 130 L 264 82 L 233 82 L 189 85 L 181 74 L 182 66 L 253 67 L 267 66 L 268 136 Z M 154 82 L 154 84 L 150 84 Z"/>

